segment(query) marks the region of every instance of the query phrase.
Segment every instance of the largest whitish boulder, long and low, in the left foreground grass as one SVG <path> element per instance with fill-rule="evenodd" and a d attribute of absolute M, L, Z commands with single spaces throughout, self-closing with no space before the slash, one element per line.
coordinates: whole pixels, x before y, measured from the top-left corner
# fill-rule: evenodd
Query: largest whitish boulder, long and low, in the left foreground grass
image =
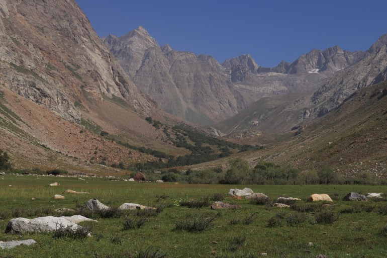
<path fill-rule="evenodd" d="M 71 227 L 77 229 L 77 224 L 65 219 L 52 216 L 39 217 L 34 219 L 16 218 L 11 219 L 6 228 L 6 233 L 25 233 L 25 232 L 51 232 L 59 226 Z"/>

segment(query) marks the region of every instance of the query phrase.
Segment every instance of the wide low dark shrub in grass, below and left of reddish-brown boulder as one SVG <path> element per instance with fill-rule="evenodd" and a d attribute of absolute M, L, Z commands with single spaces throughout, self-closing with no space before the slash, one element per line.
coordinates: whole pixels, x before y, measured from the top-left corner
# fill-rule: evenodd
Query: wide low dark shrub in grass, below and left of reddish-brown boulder
<path fill-rule="evenodd" d="M 185 217 L 178 220 L 175 228 L 179 230 L 186 230 L 188 232 L 201 232 L 209 230 L 213 226 L 214 216 L 201 215 L 199 217 Z"/>

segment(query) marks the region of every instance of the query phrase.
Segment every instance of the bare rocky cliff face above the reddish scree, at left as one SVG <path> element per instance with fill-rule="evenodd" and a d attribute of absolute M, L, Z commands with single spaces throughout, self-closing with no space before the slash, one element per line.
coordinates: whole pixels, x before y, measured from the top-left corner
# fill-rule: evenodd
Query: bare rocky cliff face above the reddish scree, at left
<path fill-rule="evenodd" d="M 74 103 L 104 95 L 150 111 L 74 1 L 0 0 L 0 9 L 1 87 L 78 123 Z"/>

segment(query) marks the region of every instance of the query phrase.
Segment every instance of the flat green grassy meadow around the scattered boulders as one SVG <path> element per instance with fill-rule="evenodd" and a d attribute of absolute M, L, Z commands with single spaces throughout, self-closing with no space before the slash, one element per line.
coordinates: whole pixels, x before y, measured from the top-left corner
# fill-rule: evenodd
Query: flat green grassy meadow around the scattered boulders
<path fill-rule="evenodd" d="M 48 186 L 54 182 L 60 186 Z M 279 209 L 227 197 L 230 188 L 244 187 L 264 193 L 271 200 L 288 195 L 303 201 L 299 201 L 298 208 Z M 64 200 L 53 199 L 55 194 L 66 189 L 90 194 L 64 194 Z M 349 192 L 380 193 L 385 192 L 385 187 L 182 185 L 107 178 L 85 178 L 82 181 L 77 178 L 0 176 L 0 241 L 29 238 L 37 241 L 31 246 L 0 249 L 0 257 L 260 257 L 261 252 L 266 252 L 268 257 L 316 257 L 318 254 L 385 257 L 387 216 L 383 214 L 387 214 L 387 202 L 341 201 Z M 179 199 L 200 200 L 211 198 L 215 193 L 223 193 L 226 196 L 224 202 L 242 208 L 215 211 L 209 206 L 195 209 L 174 205 Z M 335 201 L 329 206 L 306 203 L 306 198 L 314 193 L 329 194 Z M 52 233 L 4 233 L 13 217 L 54 215 L 54 209 L 77 209 L 91 198 L 111 207 L 139 203 L 163 206 L 164 209 L 147 217 L 140 228 L 132 230 L 123 230 L 125 215 L 98 218 L 98 223 L 87 224 L 93 227 L 93 231 L 86 239 L 54 238 Z M 307 208 L 310 211 L 301 211 Z M 325 220 L 319 221 L 324 214 Z M 136 219 L 134 213 L 126 216 Z M 200 217 L 213 219 L 212 226 L 196 232 L 176 229 L 176 223 L 184 224 Z M 333 217 L 337 218 L 334 222 L 330 221 Z M 309 246 L 309 242 L 313 245 Z"/>

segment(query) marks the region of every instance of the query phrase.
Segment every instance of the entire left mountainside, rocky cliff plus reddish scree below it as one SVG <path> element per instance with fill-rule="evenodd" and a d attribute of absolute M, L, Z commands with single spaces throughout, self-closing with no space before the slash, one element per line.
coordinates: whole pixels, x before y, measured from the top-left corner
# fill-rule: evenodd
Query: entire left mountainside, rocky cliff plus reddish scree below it
<path fill-rule="evenodd" d="M 0 39 L 0 149 L 15 167 L 103 171 L 114 169 L 90 162 L 158 160 L 107 141 L 102 130 L 135 146 L 187 152 L 145 121 L 173 118 L 135 87 L 73 0 L 0 0 Z"/>

